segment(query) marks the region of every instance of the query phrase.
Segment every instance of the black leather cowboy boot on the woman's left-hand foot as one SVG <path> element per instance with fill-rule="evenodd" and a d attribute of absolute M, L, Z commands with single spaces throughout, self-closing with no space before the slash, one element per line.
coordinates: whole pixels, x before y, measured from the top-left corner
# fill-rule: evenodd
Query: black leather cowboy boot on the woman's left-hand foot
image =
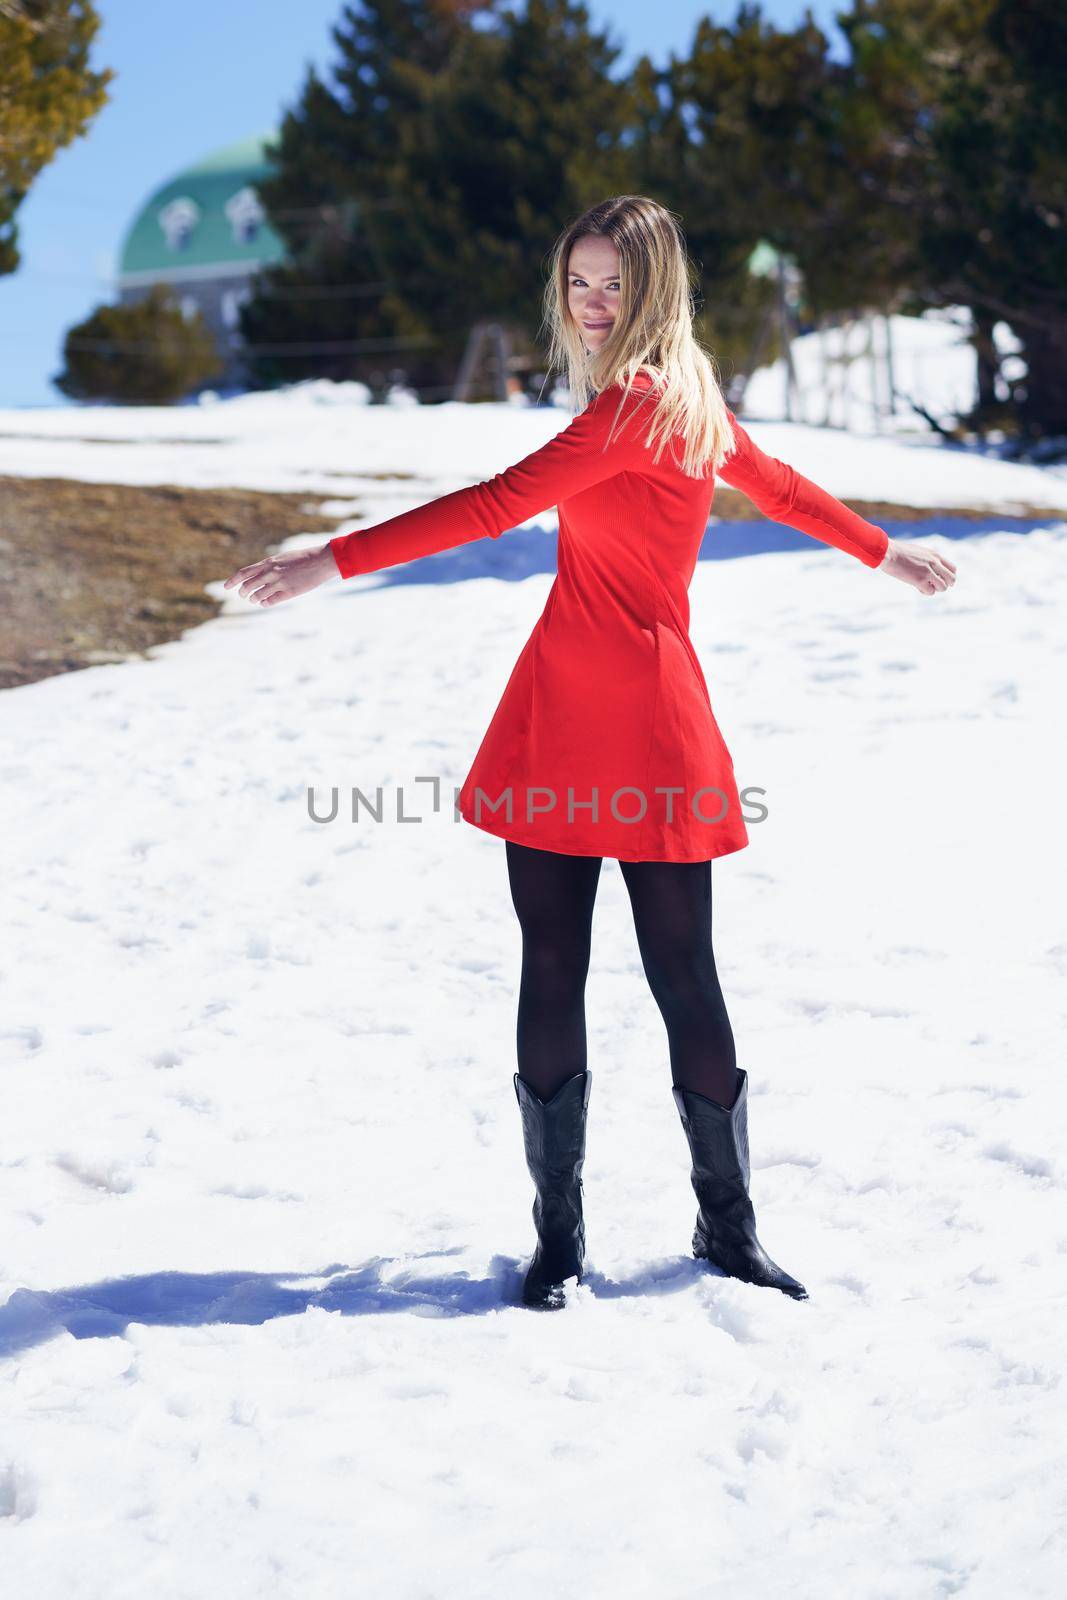
<path fill-rule="evenodd" d="M 565 1278 L 582 1282 L 585 1222 L 582 1218 L 582 1162 L 585 1107 L 592 1075 L 576 1072 L 552 1099 L 542 1101 L 515 1074 L 515 1098 L 523 1118 L 526 1166 L 534 1181 L 533 1205 L 537 1248 L 523 1283 L 523 1306 L 560 1310 Z"/>

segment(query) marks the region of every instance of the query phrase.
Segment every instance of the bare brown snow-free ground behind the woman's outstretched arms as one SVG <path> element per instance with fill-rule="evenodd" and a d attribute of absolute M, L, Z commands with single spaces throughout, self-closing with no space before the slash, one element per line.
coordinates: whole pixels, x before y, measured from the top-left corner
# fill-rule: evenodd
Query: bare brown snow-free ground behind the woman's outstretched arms
<path fill-rule="evenodd" d="M 885 501 L 848 504 L 877 523 L 945 515 Z M 312 493 L 0 477 L 0 688 L 179 638 L 219 613 L 203 592 L 206 582 L 229 578 L 294 533 L 330 538 L 336 525 L 315 506 Z M 1041 507 L 1024 514 L 1048 515 Z M 760 514 L 723 485 L 715 515 Z M 989 510 L 952 515 L 977 520 Z"/>

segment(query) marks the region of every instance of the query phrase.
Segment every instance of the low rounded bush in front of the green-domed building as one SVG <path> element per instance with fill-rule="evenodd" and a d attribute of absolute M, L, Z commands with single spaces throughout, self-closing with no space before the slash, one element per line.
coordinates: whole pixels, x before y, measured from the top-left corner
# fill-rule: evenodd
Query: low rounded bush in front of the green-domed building
<path fill-rule="evenodd" d="M 141 299 L 99 306 L 70 328 L 53 382 L 72 400 L 154 405 L 203 387 L 222 365 L 200 312 L 184 317 L 170 290 L 155 283 Z"/>

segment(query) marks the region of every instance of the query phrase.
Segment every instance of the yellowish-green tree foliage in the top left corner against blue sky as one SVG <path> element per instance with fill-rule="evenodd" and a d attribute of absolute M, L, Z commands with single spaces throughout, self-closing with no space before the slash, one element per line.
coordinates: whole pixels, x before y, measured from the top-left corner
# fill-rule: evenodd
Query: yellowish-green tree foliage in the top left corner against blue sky
<path fill-rule="evenodd" d="M 0 0 L 0 275 L 19 266 L 16 213 L 42 168 L 83 134 L 114 72 L 90 72 L 90 0 Z"/>

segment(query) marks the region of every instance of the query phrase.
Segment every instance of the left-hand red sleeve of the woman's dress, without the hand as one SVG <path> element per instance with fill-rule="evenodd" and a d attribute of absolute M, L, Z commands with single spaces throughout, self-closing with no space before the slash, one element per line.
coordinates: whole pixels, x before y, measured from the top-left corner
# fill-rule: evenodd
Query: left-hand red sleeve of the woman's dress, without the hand
<path fill-rule="evenodd" d="M 645 418 L 632 416 L 640 395 L 627 398 L 616 435 L 605 448 L 621 395 L 621 386 L 611 384 L 547 445 L 483 483 L 442 494 L 373 528 L 338 534 L 330 541 L 338 571 L 342 578 L 355 578 L 486 534 L 498 539 L 569 494 L 637 466 L 648 432 Z"/>

